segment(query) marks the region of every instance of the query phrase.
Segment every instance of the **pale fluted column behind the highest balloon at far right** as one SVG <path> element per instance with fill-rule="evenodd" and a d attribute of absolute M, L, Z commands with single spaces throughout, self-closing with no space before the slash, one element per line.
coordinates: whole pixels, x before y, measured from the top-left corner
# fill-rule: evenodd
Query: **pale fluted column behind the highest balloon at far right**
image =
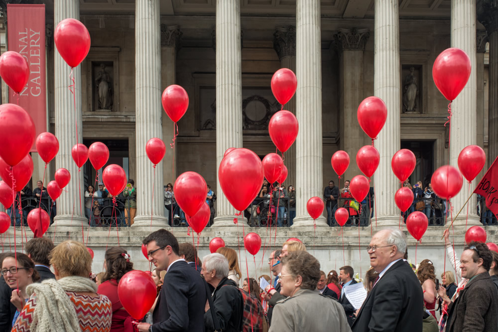
<path fill-rule="evenodd" d="M 450 128 L 450 165 L 458 169 L 457 161 L 460 151 L 468 145 L 477 143 L 476 0 L 451 1 L 451 47 L 463 49 L 469 55 L 472 65 L 467 85 L 451 105 L 453 116 Z M 472 190 L 476 184 L 477 182 L 474 181 Z M 467 201 L 469 196 L 467 189 L 468 184 L 465 181 L 460 193 L 451 199 L 456 211 L 460 210 Z M 476 200 L 476 196 L 473 196 L 468 203 L 468 220 L 466 214 L 461 214 L 454 225 L 465 227 L 466 223 L 468 225 L 480 224 Z"/>

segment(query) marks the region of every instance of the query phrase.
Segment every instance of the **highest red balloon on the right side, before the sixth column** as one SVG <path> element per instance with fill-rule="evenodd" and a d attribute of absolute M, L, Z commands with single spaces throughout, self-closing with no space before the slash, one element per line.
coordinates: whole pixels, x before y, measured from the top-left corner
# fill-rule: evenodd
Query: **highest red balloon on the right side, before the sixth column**
<path fill-rule="evenodd" d="M 469 81 L 471 72 L 470 58 L 456 47 L 451 47 L 438 55 L 432 66 L 432 78 L 443 96 L 453 101 Z"/>

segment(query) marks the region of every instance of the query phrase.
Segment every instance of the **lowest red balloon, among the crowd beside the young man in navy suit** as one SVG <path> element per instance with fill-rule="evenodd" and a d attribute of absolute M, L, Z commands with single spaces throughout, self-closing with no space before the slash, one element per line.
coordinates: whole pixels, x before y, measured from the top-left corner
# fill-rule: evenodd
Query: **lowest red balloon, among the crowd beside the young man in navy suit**
<path fill-rule="evenodd" d="M 128 314 L 136 320 L 141 320 L 154 304 L 156 285 L 147 273 L 129 271 L 118 284 L 118 296 Z"/>

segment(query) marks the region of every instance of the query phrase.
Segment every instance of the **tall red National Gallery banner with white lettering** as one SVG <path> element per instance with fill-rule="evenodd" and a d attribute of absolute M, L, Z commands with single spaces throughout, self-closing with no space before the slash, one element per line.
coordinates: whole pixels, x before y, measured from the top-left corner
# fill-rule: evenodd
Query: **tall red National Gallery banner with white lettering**
<path fill-rule="evenodd" d="M 7 4 L 7 50 L 28 62 L 29 80 L 20 93 L 19 106 L 31 115 L 38 136 L 47 131 L 44 4 Z M 11 89 L 8 94 L 9 102 L 17 104 Z M 36 151 L 34 143 L 31 151 Z"/>

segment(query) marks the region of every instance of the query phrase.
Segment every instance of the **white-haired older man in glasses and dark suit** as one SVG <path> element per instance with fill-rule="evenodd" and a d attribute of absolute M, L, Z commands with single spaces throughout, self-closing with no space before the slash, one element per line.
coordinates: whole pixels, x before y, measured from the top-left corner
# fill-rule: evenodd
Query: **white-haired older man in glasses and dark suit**
<path fill-rule="evenodd" d="M 422 287 L 403 261 L 406 238 L 395 228 L 382 229 L 370 241 L 370 265 L 379 273 L 353 323 L 353 332 L 421 332 Z"/>

